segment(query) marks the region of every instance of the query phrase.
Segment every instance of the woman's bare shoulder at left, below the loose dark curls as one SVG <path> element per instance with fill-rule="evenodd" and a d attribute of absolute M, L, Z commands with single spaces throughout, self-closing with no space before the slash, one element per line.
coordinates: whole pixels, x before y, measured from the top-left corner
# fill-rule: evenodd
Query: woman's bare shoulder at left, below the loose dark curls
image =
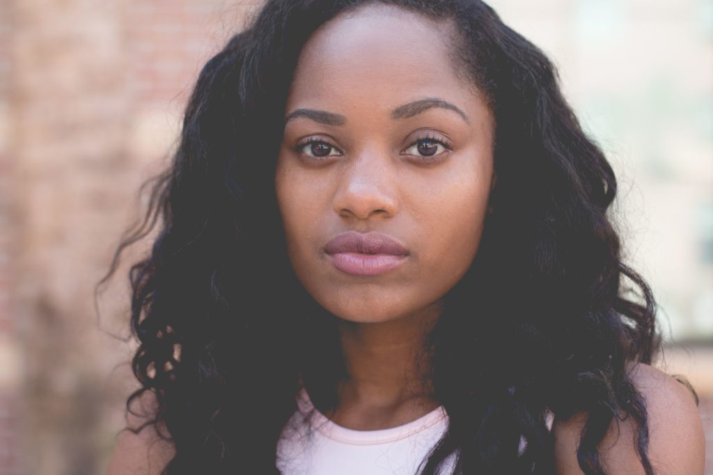
<path fill-rule="evenodd" d="M 138 429 L 147 422 L 155 409 L 155 395 L 147 391 L 141 395 L 133 412 L 128 414 L 127 426 L 118 434 L 107 475 L 160 475 L 164 467 L 173 458 L 173 445 L 160 437 L 168 432 L 160 426 L 158 431 L 153 424 L 144 427 L 138 434 L 129 429 Z"/>

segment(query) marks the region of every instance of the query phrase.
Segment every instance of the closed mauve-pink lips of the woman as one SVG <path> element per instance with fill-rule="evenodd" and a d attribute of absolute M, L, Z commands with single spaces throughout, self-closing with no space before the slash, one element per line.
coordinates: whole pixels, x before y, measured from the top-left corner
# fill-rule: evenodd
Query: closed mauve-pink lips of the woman
<path fill-rule="evenodd" d="M 347 231 L 337 234 L 324 251 L 340 271 L 357 276 L 376 276 L 399 266 L 409 251 L 386 234 Z"/>

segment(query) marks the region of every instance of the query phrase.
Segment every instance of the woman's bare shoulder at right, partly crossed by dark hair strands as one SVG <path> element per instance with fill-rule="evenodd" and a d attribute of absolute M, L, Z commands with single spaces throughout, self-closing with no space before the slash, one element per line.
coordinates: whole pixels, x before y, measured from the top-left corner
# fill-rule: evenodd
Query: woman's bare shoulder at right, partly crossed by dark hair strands
<path fill-rule="evenodd" d="M 657 475 L 703 475 L 705 441 L 703 424 L 692 393 L 665 372 L 637 365 L 632 379 L 647 406 L 648 456 Z M 577 444 L 584 414 L 556 420 L 555 459 L 559 475 L 583 475 L 577 461 Z M 599 446 L 602 466 L 610 475 L 644 475 L 635 449 L 636 423 L 632 417 L 614 419 Z"/>

